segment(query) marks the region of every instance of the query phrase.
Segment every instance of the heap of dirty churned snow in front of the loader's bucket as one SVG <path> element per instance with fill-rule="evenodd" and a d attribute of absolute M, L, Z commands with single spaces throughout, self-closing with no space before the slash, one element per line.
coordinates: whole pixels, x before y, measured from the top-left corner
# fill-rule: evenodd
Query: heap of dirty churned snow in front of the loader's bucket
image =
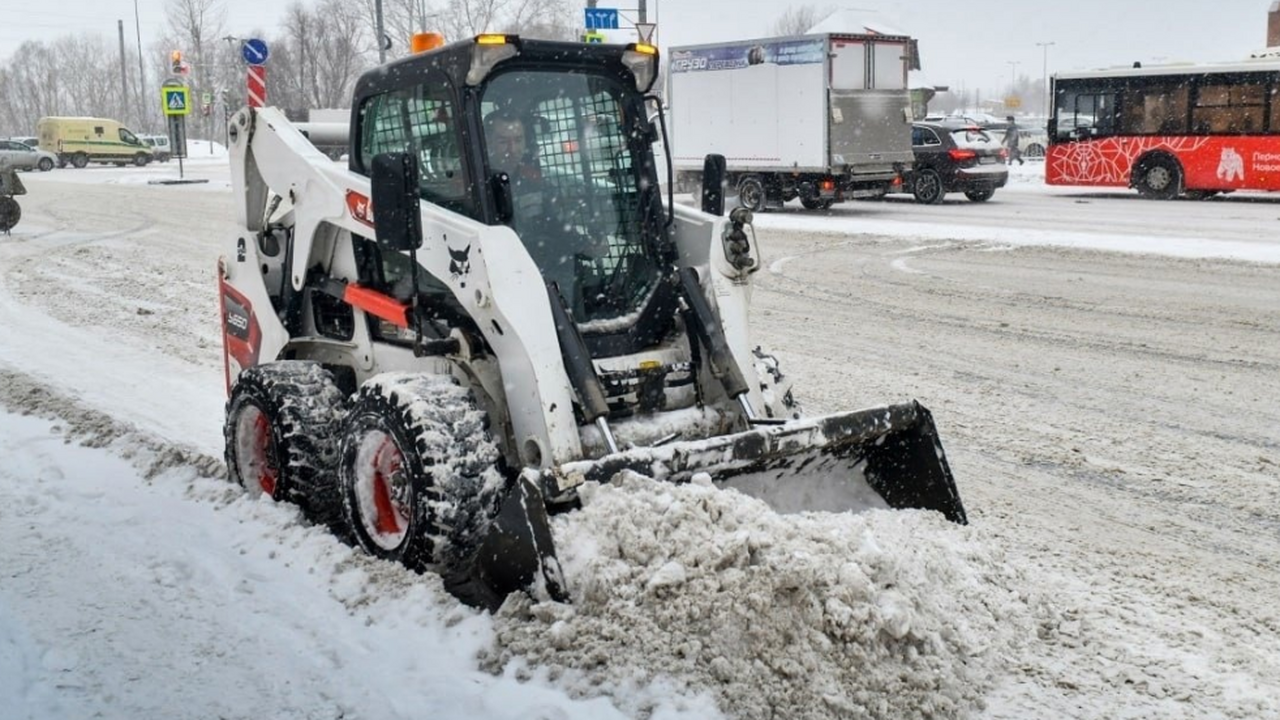
<path fill-rule="evenodd" d="M 585 696 L 668 676 L 740 719 L 954 717 L 1036 633 L 1018 571 L 933 512 L 778 515 L 639 475 L 582 500 L 554 525 L 572 605 L 509 598 L 489 670 Z"/>

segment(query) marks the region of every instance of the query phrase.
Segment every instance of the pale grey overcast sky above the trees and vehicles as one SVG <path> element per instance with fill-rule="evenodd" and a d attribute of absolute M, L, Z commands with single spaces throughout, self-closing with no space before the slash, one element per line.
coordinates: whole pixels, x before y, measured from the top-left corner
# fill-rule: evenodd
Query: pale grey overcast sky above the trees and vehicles
<path fill-rule="evenodd" d="M 352 0 L 356 1 L 356 0 Z M 429 0 L 431 1 L 431 0 Z M 434 0 L 440 4 L 443 0 Z M 600 0 L 635 8 L 637 0 Z M 287 0 L 224 0 L 227 31 L 273 28 Z M 143 47 L 164 26 L 165 0 L 137 0 Z M 584 3 L 585 4 L 585 3 Z M 1117 64 L 1233 60 L 1266 45 L 1271 0 L 858 0 L 842 5 L 874 10 L 920 41 L 928 79 L 955 88 L 998 91 L 1010 73 L 1039 78 L 1048 72 Z M 788 6 L 778 0 L 648 0 L 658 41 L 692 45 L 760 37 Z M 23 40 L 96 32 L 136 47 L 133 0 L 0 0 L 0 59 Z M 635 20 L 634 10 L 622 10 Z M 452 38 L 451 38 L 452 40 Z M 1010 65 L 1018 63 L 1018 65 Z"/>

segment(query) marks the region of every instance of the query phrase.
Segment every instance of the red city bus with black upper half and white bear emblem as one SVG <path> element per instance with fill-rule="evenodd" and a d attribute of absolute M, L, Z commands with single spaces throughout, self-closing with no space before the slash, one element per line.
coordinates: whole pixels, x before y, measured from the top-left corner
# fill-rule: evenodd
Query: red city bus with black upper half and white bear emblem
<path fill-rule="evenodd" d="M 1048 184 L 1280 190 L 1280 60 L 1061 73 L 1048 135 Z"/>

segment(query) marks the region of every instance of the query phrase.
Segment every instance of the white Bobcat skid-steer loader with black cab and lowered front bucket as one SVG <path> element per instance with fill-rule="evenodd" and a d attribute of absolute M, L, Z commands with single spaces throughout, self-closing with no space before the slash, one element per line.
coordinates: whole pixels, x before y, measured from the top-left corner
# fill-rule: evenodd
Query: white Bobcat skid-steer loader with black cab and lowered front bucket
<path fill-rule="evenodd" d="M 239 110 L 230 475 L 490 609 L 567 598 L 549 514 L 625 470 L 964 523 L 916 402 L 799 418 L 750 336 L 760 261 L 750 213 L 722 217 L 723 159 L 703 209 L 663 202 L 657 74 L 646 45 L 438 46 L 360 78 L 346 167 Z"/>

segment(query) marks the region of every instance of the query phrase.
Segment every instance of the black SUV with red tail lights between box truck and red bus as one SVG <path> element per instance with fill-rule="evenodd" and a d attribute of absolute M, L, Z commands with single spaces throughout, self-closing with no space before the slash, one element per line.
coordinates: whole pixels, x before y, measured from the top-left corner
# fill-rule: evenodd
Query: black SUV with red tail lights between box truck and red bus
<path fill-rule="evenodd" d="M 964 192 L 974 202 L 991 200 L 1009 182 L 1009 152 L 995 132 L 973 124 L 915 123 L 911 126 L 915 165 L 902 191 L 916 202 L 942 202 L 948 192 Z"/>

